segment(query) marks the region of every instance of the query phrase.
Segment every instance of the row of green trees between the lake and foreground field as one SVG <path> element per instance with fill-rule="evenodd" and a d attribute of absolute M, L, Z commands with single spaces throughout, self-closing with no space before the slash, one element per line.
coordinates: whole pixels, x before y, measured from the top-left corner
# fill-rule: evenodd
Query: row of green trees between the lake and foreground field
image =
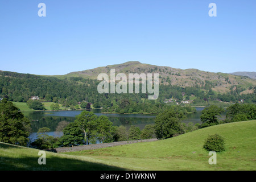
<path fill-rule="evenodd" d="M 143 130 L 131 126 L 129 131 L 124 126 L 113 126 L 105 115 L 99 117 L 92 112 L 82 111 L 73 122 L 62 122 L 59 131 L 63 136 L 53 138 L 47 135 L 47 127 L 38 130 L 38 139 L 31 143 L 36 148 L 51 148 L 77 146 L 81 144 L 108 143 L 122 140 L 175 137 L 203 127 L 227 122 L 249 121 L 256 119 L 255 104 L 234 104 L 226 109 L 226 118 L 219 116 L 224 109 L 216 105 L 205 107 L 201 114 L 201 124 L 185 124 L 187 109 L 181 106 L 171 106 L 156 115 L 154 125 L 146 125 Z M 11 101 L 4 98 L 0 102 L 0 141 L 27 146 L 31 132 L 30 121 Z"/>

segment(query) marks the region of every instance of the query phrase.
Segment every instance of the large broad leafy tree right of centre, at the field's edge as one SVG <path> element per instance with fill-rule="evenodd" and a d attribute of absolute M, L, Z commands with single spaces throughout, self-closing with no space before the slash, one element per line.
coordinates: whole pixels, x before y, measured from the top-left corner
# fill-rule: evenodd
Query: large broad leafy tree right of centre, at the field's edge
<path fill-rule="evenodd" d="M 166 139 L 174 137 L 175 134 L 184 133 L 181 126 L 181 120 L 183 119 L 185 119 L 185 115 L 178 106 L 172 106 L 170 109 L 156 115 L 156 138 Z"/>

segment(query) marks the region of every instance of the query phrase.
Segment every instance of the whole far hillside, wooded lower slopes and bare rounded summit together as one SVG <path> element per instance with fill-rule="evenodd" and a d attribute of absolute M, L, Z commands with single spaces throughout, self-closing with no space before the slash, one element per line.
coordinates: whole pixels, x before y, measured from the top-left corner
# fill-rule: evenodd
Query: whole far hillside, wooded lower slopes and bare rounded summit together
<path fill-rule="evenodd" d="M 15 72 L 0 71 L 0 97 L 9 97 L 10 101 L 27 102 L 32 96 L 40 101 L 58 102 L 61 106 L 76 106 L 81 102 L 98 104 L 97 106 L 117 109 L 113 101 L 120 105 L 124 98 L 134 102 L 144 102 L 147 94 L 100 94 L 95 80 L 100 73 L 159 73 L 158 102 L 168 102 L 175 98 L 178 102 L 191 100 L 195 105 L 206 102 L 256 102 L 256 80 L 210 73 L 198 69 L 175 69 L 142 64 L 138 61 L 107 67 L 99 67 L 82 72 L 73 72 L 61 76 L 39 76 Z M 43 99 L 43 100 L 42 100 Z M 167 101 L 166 101 L 167 100 Z M 139 110 L 138 110 L 139 111 Z M 138 112 L 137 111 L 137 112 Z M 147 111 L 145 111 L 147 112 Z"/>

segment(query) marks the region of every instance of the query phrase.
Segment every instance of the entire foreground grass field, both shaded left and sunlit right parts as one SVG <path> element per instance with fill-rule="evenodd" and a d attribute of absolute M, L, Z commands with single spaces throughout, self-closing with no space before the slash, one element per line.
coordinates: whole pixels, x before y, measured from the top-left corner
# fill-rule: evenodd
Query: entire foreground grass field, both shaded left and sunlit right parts
<path fill-rule="evenodd" d="M 155 142 L 134 143 L 55 154 L 47 152 L 46 165 L 38 164 L 38 151 L 0 143 L 2 170 L 256 170 L 256 120 L 226 123 Z M 209 134 L 225 138 L 217 164 L 208 163 L 203 149 Z M 114 167 L 113 167 L 114 166 Z"/>

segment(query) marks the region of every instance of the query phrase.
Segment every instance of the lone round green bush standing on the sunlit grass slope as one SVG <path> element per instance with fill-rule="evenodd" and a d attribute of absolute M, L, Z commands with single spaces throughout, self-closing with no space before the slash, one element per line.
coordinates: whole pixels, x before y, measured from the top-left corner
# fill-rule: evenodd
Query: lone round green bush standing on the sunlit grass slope
<path fill-rule="evenodd" d="M 209 137 L 205 140 L 203 147 L 208 151 L 221 152 L 225 150 L 224 143 L 223 137 L 218 134 L 214 134 L 209 135 Z"/>

